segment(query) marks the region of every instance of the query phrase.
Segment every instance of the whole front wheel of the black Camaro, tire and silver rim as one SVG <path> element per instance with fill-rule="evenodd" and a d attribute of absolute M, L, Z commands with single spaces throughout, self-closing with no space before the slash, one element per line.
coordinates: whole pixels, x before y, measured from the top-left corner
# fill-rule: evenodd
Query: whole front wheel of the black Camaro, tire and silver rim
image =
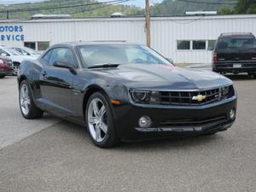
<path fill-rule="evenodd" d="M 119 141 L 113 123 L 113 114 L 107 96 L 92 94 L 86 106 L 85 119 L 92 142 L 101 148 L 110 148 Z"/>

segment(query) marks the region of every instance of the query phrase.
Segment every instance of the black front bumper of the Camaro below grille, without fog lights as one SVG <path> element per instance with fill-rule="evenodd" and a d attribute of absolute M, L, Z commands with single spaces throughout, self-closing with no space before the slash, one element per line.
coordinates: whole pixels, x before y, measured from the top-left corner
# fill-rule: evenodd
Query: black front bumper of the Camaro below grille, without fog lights
<path fill-rule="evenodd" d="M 230 109 L 236 110 L 236 96 L 222 102 L 202 106 L 114 106 L 113 114 L 118 137 L 125 141 L 140 141 L 162 137 L 193 136 L 227 130 L 235 121 Z M 141 128 L 142 116 L 152 119 L 148 128 Z"/>

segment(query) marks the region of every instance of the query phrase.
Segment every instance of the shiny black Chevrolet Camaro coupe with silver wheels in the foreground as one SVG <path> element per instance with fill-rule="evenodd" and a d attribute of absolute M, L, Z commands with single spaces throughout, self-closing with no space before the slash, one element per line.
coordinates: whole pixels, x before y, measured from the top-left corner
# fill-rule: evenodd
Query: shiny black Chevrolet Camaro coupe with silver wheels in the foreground
<path fill-rule="evenodd" d="M 87 127 L 102 148 L 121 141 L 214 134 L 236 119 L 236 90 L 218 73 L 175 67 L 140 44 L 65 43 L 18 73 L 20 111 Z"/>

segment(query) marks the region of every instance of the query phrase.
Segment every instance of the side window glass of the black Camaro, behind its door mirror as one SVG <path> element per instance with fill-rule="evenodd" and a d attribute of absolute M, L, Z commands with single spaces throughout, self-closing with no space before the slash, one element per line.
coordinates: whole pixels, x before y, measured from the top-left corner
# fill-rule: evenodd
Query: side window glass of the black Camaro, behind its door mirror
<path fill-rule="evenodd" d="M 73 66 L 76 64 L 72 51 L 67 48 L 52 49 L 48 64 L 52 66 L 55 61 L 66 62 Z"/>

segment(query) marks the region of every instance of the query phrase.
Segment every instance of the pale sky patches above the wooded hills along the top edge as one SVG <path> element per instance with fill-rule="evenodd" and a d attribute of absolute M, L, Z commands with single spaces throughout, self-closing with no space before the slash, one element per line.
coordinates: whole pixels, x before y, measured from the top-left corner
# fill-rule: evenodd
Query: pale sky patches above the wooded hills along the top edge
<path fill-rule="evenodd" d="M 64 2 L 65 0 L 63 0 Z M 99 2 L 108 2 L 110 0 L 98 0 Z M 161 3 L 163 0 L 150 0 L 152 3 Z M 24 3 L 24 2 L 42 2 L 42 0 L 0 0 L 0 3 Z M 145 0 L 131 0 L 125 4 L 136 5 L 137 7 L 143 8 L 145 6 Z"/>

